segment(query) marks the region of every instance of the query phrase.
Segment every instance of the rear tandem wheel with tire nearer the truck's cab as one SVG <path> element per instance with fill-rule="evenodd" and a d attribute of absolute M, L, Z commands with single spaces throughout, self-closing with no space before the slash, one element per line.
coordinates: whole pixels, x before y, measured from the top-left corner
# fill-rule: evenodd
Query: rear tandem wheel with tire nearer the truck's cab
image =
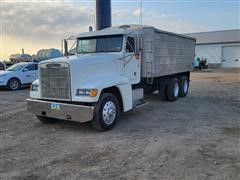
<path fill-rule="evenodd" d="M 170 79 L 167 86 L 167 100 L 176 101 L 179 96 L 179 81 L 176 78 Z"/>

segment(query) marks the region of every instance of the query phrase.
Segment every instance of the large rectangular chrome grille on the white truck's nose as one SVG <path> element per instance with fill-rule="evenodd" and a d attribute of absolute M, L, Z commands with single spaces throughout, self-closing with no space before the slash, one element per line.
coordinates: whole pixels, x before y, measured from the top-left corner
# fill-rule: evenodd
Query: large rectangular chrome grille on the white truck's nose
<path fill-rule="evenodd" d="M 70 77 L 67 63 L 40 65 L 42 98 L 70 100 Z"/>

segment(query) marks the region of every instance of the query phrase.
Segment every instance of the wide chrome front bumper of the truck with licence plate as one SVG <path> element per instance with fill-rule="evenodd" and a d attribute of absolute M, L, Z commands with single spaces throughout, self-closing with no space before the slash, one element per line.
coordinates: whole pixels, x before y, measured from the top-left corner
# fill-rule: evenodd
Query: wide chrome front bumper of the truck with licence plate
<path fill-rule="evenodd" d="M 26 101 L 28 110 L 35 115 L 77 122 L 87 122 L 93 119 L 93 106 L 55 103 L 36 99 L 26 99 Z"/>

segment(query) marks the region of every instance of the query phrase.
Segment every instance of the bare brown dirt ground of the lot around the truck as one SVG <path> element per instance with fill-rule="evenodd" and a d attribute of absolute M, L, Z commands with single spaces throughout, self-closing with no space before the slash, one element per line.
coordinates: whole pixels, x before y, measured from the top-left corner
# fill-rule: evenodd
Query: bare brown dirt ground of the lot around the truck
<path fill-rule="evenodd" d="M 90 123 L 42 124 L 28 89 L 0 91 L 0 179 L 240 179 L 240 70 L 191 74 L 176 102 L 149 104 L 97 132 Z"/>

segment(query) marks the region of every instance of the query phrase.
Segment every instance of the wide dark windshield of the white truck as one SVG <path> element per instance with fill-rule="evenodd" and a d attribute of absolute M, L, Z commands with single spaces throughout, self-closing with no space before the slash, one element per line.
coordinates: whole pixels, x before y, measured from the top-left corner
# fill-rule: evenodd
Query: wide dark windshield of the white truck
<path fill-rule="evenodd" d="M 120 52 L 122 50 L 123 36 L 97 36 L 79 38 L 77 40 L 77 53 Z"/>

